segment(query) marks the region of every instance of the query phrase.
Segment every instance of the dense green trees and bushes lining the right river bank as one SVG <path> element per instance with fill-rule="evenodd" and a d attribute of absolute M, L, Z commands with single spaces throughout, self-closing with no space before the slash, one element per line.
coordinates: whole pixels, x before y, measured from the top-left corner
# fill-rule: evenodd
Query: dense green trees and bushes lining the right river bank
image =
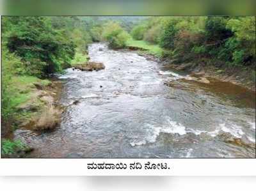
<path fill-rule="evenodd" d="M 131 34 L 134 40 L 143 36 L 159 45 L 163 56 L 180 62 L 199 59 L 216 66 L 255 66 L 255 17 L 149 17 Z"/>

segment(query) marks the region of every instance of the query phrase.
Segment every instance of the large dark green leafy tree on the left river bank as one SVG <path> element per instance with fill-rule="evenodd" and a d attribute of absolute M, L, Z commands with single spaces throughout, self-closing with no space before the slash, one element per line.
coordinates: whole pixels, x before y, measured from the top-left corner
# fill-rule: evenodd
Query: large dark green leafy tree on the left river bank
<path fill-rule="evenodd" d="M 61 72 L 74 56 L 74 43 L 52 27 L 49 17 L 4 17 L 3 28 L 6 46 L 22 58 L 27 75 Z"/>

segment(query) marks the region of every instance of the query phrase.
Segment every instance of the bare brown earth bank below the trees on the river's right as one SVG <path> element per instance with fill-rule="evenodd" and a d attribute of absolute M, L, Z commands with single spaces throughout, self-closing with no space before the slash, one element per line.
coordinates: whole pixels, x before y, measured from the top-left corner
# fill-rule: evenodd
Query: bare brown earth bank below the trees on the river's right
<path fill-rule="evenodd" d="M 196 60 L 189 63 L 180 63 L 176 59 L 163 58 L 159 55 L 157 56 L 156 54 L 152 54 L 148 52 L 147 49 L 141 47 L 128 46 L 127 50 L 138 52 L 139 55 L 147 57 L 148 60 L 161 63 L 166 70 L 186 72 L 191 77 L 211 77 L 223 82 L 230 82 L 255 92 L 255 68 L 253 67 L 216 67 Z"/>

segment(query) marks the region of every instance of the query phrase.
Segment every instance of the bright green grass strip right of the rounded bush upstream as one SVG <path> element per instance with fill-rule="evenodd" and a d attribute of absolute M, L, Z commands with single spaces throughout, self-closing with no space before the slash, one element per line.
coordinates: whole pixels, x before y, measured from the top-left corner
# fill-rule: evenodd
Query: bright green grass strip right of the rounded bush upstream
<path fill-rule="evenodd" d="M 126 45 L 147 49 L 148 53 L 159 57 L 162 56 L 163 53 L 163 49 L 161 49 L 159 45 L 150 44 L 143 40 L 133 40 L 132 38 L 130 38 L 129 40 L 127 40 Z"/>

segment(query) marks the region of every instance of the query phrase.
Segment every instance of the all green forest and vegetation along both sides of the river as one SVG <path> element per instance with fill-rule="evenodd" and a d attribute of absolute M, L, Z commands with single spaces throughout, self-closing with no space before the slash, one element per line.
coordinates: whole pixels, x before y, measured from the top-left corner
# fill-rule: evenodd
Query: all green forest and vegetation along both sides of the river
<path fill-rule="evenodd" d="M 255 17 L 2 17 L 1 24 L 3 135 L 29 118 L 19 105 L 31 99 L 31 83 L 46 86 L 53 73 L 86 64 L 92 42 L 139 47 L 177 64 L 241 68 L 255 82 Z M 22 147 L 5 144 L 5 153 Z"/>

